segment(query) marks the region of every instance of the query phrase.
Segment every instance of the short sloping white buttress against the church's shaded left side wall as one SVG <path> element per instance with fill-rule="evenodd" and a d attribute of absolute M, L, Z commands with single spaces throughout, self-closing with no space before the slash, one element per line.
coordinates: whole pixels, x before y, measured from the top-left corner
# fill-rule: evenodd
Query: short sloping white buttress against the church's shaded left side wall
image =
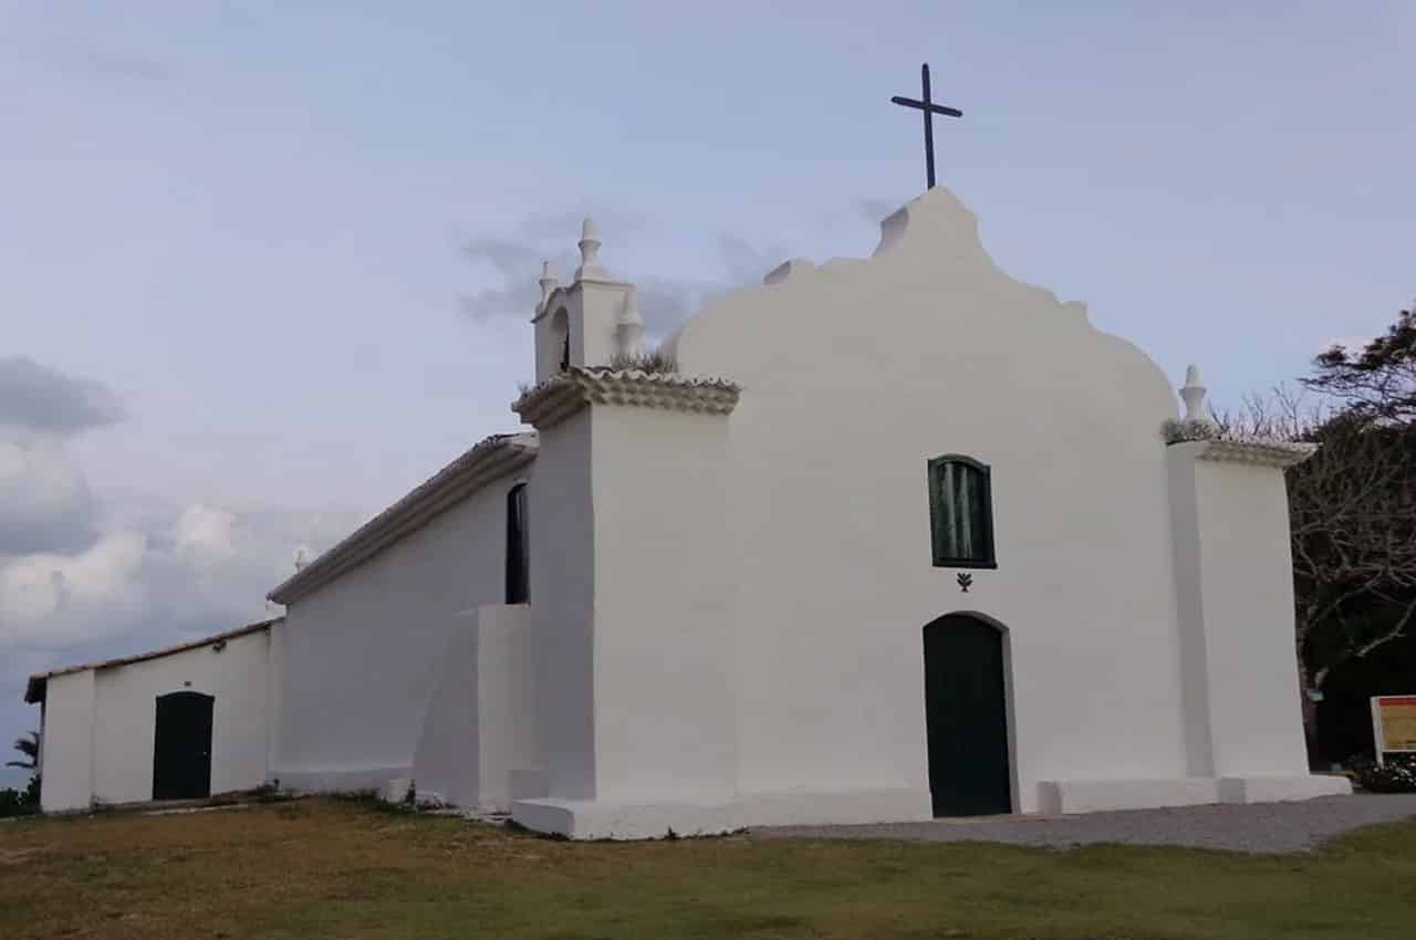
<path fill-rule="evenodd" d="M 483 810 L 511 806 L 511 774 L 537 764 L 535 657 L 528 604 L 457 614 L 418 738 L 419 796 Z"/>

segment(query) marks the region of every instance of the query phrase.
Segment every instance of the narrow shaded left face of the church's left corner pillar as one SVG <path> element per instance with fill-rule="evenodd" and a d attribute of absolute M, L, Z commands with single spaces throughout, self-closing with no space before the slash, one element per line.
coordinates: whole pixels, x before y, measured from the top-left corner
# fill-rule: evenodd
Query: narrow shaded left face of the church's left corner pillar
<path fill-rule="evenodd" d="M 530 490 L 538 750 L 551 796 L 595 797 L 590 411 L 541 432 Z"/>

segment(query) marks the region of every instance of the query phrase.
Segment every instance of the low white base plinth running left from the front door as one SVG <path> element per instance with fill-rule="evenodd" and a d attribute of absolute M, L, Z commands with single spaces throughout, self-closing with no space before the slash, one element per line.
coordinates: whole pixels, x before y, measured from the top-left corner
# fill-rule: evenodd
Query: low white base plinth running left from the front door
<path fill-rule="evenodd" d="M 573 839 L 644 839 L 715 835 L 752 825 L 850 825 L 930 818 L 927 790 L 759 793 L 702 803 L 517 800 L 511 818 L 539 832 Z"/>

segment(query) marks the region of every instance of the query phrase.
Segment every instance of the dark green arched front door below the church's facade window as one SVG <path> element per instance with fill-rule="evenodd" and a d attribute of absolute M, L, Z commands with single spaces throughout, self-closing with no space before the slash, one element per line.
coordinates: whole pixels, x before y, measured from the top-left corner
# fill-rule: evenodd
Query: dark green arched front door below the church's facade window
<path fill-rule="evenodd" d="M 1012 810 L 1003 633 L 967 614 L 925 627 L 925 721 L 935 815 Z"/>

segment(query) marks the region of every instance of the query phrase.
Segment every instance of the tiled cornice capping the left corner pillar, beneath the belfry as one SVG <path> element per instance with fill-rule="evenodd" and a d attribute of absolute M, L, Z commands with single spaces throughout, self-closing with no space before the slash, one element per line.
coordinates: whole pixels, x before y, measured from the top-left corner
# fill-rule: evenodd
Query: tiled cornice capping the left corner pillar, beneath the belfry
<path fill-rule="evenodd" d="M 511 411 L 537 429 L 558 425 L 588 405 L 731 415 L 741 391 L 724 378 L 572 367 L 527 389 L 511 403 Z"/>

